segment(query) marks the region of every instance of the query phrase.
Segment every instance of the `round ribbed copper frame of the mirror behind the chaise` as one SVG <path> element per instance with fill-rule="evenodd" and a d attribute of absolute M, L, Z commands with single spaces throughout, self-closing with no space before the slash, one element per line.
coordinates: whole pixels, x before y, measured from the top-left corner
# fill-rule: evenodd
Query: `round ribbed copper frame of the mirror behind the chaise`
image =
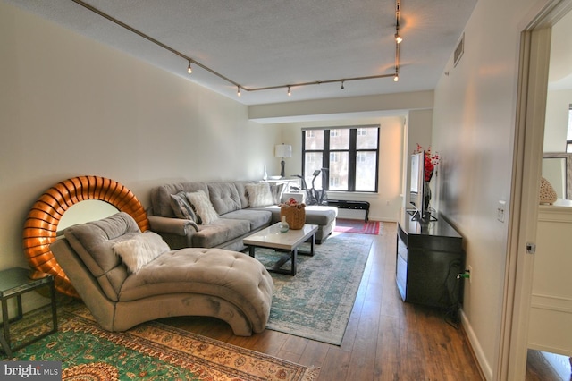
<path fill-rule="evenodd" d="M 145 232 L 149 228 L 147 213 L 139 199 L 119 182 L 97 176 L 74 177 L 46 190 L 34 203 L 24 224 L 23 247 L 29 266 L 55 276 L 58 292 L 78 297 L 70 279 L 63 272 L 50 250 L 55 241 L 57 225 L 63 213 L 86 199 L 105 201 L 119 211 L 130 214 Z"/>

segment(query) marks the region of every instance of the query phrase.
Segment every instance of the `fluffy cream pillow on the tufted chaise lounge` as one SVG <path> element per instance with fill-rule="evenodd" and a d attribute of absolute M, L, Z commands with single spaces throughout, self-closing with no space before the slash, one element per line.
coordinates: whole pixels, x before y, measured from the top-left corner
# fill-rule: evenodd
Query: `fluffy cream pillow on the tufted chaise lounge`
<path fill-rule="evenodd" d="M 130 240 L 114 244 L 115 253 L 122 258 L 132 274 L 137 273 L 141 267 L 169 250 L 171 248 L 159 234 L 149 231 L 138 234 Z"/>

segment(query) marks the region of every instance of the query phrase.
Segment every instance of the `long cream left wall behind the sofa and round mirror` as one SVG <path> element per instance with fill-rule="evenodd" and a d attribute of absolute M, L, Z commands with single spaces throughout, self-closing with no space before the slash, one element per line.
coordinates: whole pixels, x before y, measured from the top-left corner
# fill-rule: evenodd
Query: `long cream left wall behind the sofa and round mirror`
<path fill-rule="evenodd" d="M 29 208 L 65 179 L 111 178 L 148 207 L 164 182 L 258 179 L 278 165 L 278 131 L 246 106 L 3 2 L 0 56 L 0 269 L 27 266 Z"/>

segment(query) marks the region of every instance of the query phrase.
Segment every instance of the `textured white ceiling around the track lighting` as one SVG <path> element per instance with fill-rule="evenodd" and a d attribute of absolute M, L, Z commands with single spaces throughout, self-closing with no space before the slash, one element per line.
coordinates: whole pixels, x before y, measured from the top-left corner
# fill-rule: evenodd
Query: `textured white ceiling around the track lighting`
<path fill-rule="evenodd" d="M 401 2 L 400 80 L 245 91 L 72 0 L 4 0 L 246 105 L 434 89 L 476 0 Z M 395 72 L 391 0 L 87 0 L 246 88 Z"/>

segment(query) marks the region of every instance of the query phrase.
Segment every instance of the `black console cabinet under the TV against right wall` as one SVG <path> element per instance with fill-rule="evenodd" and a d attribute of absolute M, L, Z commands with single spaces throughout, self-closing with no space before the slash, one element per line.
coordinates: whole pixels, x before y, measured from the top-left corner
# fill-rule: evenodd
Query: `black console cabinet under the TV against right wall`
<path fill-rule="evenodd" d="M 397 229 L 396 281 L 401 299 L 450 309 L 462 302 L 463 238 L 443 218 L 413 221 L 403 213 Z"/>

